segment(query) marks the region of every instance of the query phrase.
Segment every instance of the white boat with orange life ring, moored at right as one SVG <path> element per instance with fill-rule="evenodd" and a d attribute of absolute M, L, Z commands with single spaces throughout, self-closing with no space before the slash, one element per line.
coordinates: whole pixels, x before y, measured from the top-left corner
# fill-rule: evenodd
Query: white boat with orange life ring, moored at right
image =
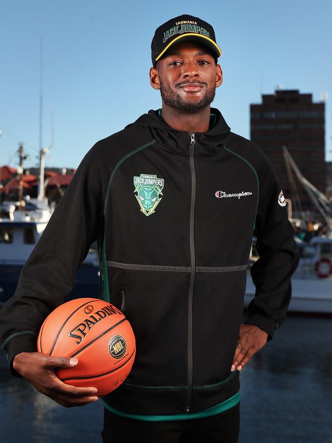
<path fill-rule="evenodd" d="M 316 206 L 323 222 L 317 223 L 316 232 L 309 220 L 307 229 L 304 228 L 304 238 L 295 235 L 295 241 L 300 250 L 299 265 L 291 278 L 292 297 L 289 312 L 331 314 L 332 313 L 332 201 L 319 191 L 309 180 L 307 180 L 286 146 L 282 147 L 284 160 L 287 167 L 289 182 L 295 191 L 293 172 Z M 296 195 L 296 192 L 294 192 Z M 298 232 L 298 228 L 304 224 L 304 220 L 293 218 L 292 200 L 286 199 L 288 203 L 289 220 Z M 310 229 L 309 229 L 310 226 Z M 321 228 L 319 230 L 319 227 Z M 324 234 L 323 234 L 324 232 Z M 252 239 L 252 247 L 249 255 L 247 268 L 246 292 L 244 306 L 248 307 L 255 296 L 255 285 L 251 278 L 250 268 L 259 255 L 256 251 L 256 237 Z"/>

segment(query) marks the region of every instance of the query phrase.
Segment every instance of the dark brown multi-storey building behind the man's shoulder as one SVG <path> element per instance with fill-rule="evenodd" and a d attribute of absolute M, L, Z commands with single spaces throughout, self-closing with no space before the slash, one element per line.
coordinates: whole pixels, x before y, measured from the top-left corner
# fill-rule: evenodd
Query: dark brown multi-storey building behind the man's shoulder
<path fill-rule="evenodd" d="M 263 103 L 250 105 L 251 140 L 272 160 L 285 197 L 293 200 L 293 209 L 315 210 L 295 177 L 300 201 L 300 207 L 297 207 L 282 146 L 287 147 L 303 176 L 326 193 L 325 103 L 313 103 L 312 94 L 300 94 L 297 89 L 276 89 L 274 94 L 262 97 Z"/>

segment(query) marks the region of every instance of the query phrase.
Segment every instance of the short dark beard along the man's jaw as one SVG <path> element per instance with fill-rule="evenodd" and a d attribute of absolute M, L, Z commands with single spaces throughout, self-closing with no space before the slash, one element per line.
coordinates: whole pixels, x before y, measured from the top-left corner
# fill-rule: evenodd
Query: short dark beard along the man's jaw
<path fill-rule="evenodd" d="M 209 106 L 214 101 L 216 95 L 216 86 L 205 90 L 204 97 L 196 102 L 183 100 L 179 94 L 174 92 L 169 86 L 166 86 L 161 79 L 160 82 L 160 95 L 163 103 L 171 108 L 178 109 L 187 114 L 196 114 Z M 204 83 L 206 84 L 206 83 Z"/>

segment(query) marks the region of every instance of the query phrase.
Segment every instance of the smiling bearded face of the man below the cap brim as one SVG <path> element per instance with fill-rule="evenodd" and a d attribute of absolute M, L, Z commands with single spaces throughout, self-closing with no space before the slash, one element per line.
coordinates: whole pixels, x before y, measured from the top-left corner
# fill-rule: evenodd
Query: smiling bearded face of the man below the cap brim
<path fill-rule="evenodd" d="M 204 46 L 179 43 L 150 69 L 151 85 L 160 89 L 165 105 L 187 113 L 196 113 L 214 100 L 222 83 L 220 65 Z"/>

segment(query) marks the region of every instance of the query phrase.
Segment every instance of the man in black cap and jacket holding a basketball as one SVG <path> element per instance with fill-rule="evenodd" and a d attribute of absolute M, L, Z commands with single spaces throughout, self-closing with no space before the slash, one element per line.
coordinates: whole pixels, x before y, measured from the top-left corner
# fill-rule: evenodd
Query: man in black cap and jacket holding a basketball
<path fill-rule="evenodd" d="M 103 398 L 103 441 L 233 443 L 239 372 L 286 316 L 299 252 L 265 154 L 210 108 L 222 84 L 213 28 L 182 15 L 152 41 L 150 82 L 162 108 L 93 146 L 1 312 L 13 375 L 61 405 L 97 400 L 63 384 L 36 353 L 44 318 L 98 239 L 100 290 L 136 336 L 125 382 Z M 256 297 L 241 324 L 252 235 Z"/>

